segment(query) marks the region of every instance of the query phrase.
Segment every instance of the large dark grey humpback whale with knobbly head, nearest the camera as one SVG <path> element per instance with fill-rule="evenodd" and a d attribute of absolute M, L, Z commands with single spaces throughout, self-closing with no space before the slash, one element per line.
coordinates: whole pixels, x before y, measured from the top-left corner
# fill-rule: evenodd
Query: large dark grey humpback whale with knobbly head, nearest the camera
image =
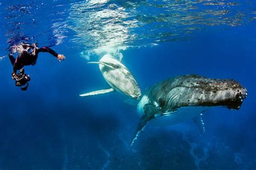
<path fill-rule="evenodd" d="M 142 114 L 131 145 L 151 119 L 171 124 L 193 119 L 201 133 L 204 123 L 201 113 L 206 107 L 223 106 L 238 110 L 247 91 L 231 79 L 207 79 L 199 75 L 177 76 L 154 84 L 138 104 Z"/>

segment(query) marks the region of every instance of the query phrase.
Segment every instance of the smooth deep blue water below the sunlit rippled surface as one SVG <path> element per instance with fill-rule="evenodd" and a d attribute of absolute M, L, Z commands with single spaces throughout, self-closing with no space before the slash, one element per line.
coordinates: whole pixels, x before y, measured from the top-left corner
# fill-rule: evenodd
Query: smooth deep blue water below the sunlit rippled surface
<path fill-rule="evenodd" d="M 192 121 L 163 127 L 149 124 L 132 147 L 129 143 L 139 119 L 136 107 L 117 92 L 78 96 L 109 86 L 98 67 L 80 57 L 86 49 L 76 48 L 69 37 L 52 47 L 66 61 L 58 63 L 43 53 L 36 66 L 25 67 L 32 79 L 27 91 L 15 87 L 12 67 L 4 58 L 0 61 L 0 169 L 255 169 L 255 27 L 255 22 L 212 26 L 192 40 L 123 51 L 122 61 L 142 91 L 184 74 L 235 79 L 248 91 L 238 111 L 205 112 L 203 137 Z M 5 29 L 3 25 L 2 55 L 8 53 L 3 45 Z"/>

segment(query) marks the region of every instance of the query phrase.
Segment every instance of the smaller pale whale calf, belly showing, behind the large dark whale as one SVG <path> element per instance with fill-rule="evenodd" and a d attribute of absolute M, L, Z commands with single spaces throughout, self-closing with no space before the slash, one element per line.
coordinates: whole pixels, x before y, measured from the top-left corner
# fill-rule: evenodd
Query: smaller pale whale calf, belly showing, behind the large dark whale
<path fill-rule="evenodd" d="M 109 55 L 104 55 L 99 62 L 88 62 L 99 64 L 100 72 L 107 83 L 111 86 L 110 89 L 92 91 L 79 96 L 91 96 L 109 93 L 117 90 L 120 93 L 128 95 L 132 98 L 139 99 L 142 96 L 138 83 L 132 76 L 129 69 L 127 69 L 121 62 L 111 58 Z"/>

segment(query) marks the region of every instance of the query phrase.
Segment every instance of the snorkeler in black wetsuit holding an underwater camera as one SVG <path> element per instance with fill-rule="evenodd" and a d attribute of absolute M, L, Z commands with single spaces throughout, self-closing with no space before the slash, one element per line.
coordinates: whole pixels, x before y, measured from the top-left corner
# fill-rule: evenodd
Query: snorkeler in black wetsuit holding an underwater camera
<path fill-rule="evenodd" d="M 15 57 L 11 53 L 9 54 L 9 59 L 11 61 L 12 66 L 14 67 L 14 71 L 12 72 L 11 76 L 12 76 L 12 79 L 16 81 L 16 86 L 23 85 L 24 83 L 30 80 L 29 75 L 24 74 L 23 67 L 29 66 L 29 65 L 32 65 L 32 66 L 35 65 L 39 52 L 48 52 L 53 56 L 55 56 L 59 61 L 66 59 L 64 55 L 56 53 L 51 48 L 48 48 L 48 47 L 38 48 L 37 44 L 17 45 L 14 49 L 14 52 L 19 52 L 19 55 L 17 56 L 17 58 L 15 59 Z M 17 70 L 20 70 L 19 74 L 17 74 Z M 21 77 L 23 78 L 21 79 Z M 21 80 L 24 83 L 19 83 L 21 82 Z M 18 85 L 17 85 L 17 81 L 19 81 Z"/>

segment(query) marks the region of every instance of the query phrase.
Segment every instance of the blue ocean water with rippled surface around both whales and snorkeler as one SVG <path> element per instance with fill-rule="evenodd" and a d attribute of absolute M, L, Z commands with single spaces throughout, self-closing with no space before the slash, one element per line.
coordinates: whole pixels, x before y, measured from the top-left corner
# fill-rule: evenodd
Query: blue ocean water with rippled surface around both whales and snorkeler
<path fill-rule="evenodd" d="M 0 169 L 255 169 L 256 4 L 248 1 L 0 1 Z M 27 91 L 15 87 L 5 55 L 19 42 L 49 46 L 26 66 Z M 97 65 L 110 54 L 142 93 L 169 77 L 234 79 L 248 97 L 239 110 L 204 112 L 193 121 L 146 126 L 109 88 Z"/>

